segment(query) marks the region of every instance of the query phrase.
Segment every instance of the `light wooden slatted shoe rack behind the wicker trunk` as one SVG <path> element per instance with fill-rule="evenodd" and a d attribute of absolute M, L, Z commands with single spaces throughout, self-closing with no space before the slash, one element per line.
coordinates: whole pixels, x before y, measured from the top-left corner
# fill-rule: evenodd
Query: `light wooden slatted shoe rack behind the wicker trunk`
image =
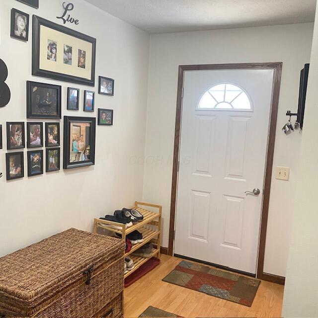
<path fill-rule="evenodd" d="M 156 210 L 156 212 L 150 211 L 145 207 L 152 208 L 153 210 Z M 129 252 L 125 253 L 124 257 L 130 255 L 132 252 L 137 250 L 139 247 L 143 246 L 144 244 L 148 243 L 149 241 L 152 241 L 154 244 L 156 244 L 157 248 L 153 249 L 152 256 L 156 256 L 159 258 L 160 256 L 160 236 L 161 236 L 161 205 L 156 204 L 150 204 L 145 202 L 135 202 L 135 206 L 133 209 L 138 210 L 143 216 L 144 220 L 140 221 L 138 223 L 134 223 L 133 226 L 126 229 L 126 225 L 122 223 L 117 222 L 111 222 L 106 220 L 100 220 L 100 219 L 94 219 L 94 231 L 93 233 L 98 232 L 98 228 L 106 229 L 108 231 L 111 231 L 113 233 L 118 233 L 122 236 L 122 240 L 126 241 L 126 236 L 129 233 L 132 233 L 133 231 L 137 230 L 140 233 L 143 234 L 143 242 L 132 245 L 132 248 Z M 121 230 L 117 230 L 114 228 L 111 228 L 111 225 L 115 225 L 116 227 L 121 227 Z M 134 269 L 128 271 L 124 275 L 126 278 L 130 274 L 132 274 L 135 270 L 137 270 L 142 264 L 146 263 L 151 257 L 145 258 L 140 256 L 130 256 L 131 259 L 134 262 Z"/>

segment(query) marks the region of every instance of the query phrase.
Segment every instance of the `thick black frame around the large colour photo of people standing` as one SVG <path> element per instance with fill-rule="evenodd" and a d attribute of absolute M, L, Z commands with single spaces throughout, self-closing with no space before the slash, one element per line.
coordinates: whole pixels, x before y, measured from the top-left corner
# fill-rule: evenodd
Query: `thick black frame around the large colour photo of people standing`
<path fill-rule="evenodd" d="M 89 160 L 79 160 L 80 154 L 76 153 L 72 158 L 71 162 L 71 125 L 78 128 L 81 124 L 89 123 L 89 139 L 85 136 L 85 144 L 89 144 Z M 96 118 L 95 117 L 78 117 L 78 116 L 64 116 L 64 151 L 63 151 L 63 168 L 71 169 L 77 167 L 83 167 L 95 164 L 95 127 Z M 80 128 L 79 128 L 80 129 Z M 85 135 L 86 135 L 85 128 Z M 73 132 L 72 132 L 73 133 Z M 79 135 L 81 131 L 79 132 Z M 87 139 L 87 142 L 86 142 Z M 79 155 L 79 157 L 78 157 Z"/>

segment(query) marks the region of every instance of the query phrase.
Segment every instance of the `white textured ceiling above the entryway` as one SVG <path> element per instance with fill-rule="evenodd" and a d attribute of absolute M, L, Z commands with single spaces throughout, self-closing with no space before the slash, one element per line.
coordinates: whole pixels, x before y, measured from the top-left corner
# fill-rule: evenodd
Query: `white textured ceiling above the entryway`
<path fill-rule="evenodd" d="M 86 0 L 151 34 L 312 22 L 316 0 Z"/>

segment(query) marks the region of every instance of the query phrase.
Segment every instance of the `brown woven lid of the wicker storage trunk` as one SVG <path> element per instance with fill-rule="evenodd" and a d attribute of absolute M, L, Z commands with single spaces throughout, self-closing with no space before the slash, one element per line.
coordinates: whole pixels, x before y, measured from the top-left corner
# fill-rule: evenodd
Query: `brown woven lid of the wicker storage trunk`
<path fill-rule="evenodd" d="M 84 279 L 89 266 L 97 269 L 121 257 L 124 245 L 121 239 L 69 229 L 1 257 L 0 298 L 38 303 L 45 294 Z"/>

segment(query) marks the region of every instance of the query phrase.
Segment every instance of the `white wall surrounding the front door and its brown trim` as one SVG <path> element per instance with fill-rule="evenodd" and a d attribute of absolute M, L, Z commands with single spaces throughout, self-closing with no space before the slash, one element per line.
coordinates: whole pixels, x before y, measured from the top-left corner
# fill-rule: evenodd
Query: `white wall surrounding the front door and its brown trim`
<path fill-rule="evenodd" d="M 274 166 L 289 166 L 291 174 L 288 182 L 272 180 L 264 271 L 285 276 L 301 136 L 284 136 L 281 128 L 286 110 L 297 109 L 312 32 L 313 23 L 306 23 L 151 36 L 143 199 L 163 205 L 163 246 L 168 246 L 178 65 L 283 62 Z"/>

